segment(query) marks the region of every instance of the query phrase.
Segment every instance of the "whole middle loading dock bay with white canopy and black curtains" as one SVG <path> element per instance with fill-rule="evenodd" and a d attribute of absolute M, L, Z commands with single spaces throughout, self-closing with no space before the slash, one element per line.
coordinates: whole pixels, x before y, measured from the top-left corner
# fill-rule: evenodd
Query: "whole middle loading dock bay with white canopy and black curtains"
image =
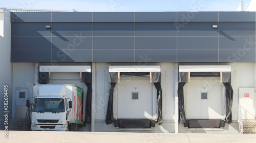
<path fill-rule="evenodd" d="M 160 66 L 110 66 L 106 124 L 151 128 L 162 123 Z"/>

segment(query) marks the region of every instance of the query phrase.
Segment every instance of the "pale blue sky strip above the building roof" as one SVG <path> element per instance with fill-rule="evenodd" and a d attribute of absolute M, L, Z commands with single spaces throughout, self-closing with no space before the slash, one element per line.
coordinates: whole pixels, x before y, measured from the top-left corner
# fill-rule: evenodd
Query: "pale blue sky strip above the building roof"
<path fill-rule="evenodd" d="M 244 9 L 250 0 L 244 0 Z M 240 0 L 0 0 L 0 7 L 87 12 L 236 11 Z"/>

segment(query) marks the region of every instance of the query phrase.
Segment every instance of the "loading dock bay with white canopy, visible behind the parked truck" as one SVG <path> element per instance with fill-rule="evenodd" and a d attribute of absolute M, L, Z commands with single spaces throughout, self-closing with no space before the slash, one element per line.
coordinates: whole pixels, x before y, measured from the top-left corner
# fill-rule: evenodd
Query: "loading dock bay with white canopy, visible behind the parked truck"
<path fill-rule="evenodd" d="M 74 84 L 77 87 L 86 90 L 83 94 L 86 100 L 83 100 L 83 121 L 91 122 L 91 102 L 92 102 L 92 72 L 91 66 L 82 65 L 59 65 L 59 66 L 39 66 L 40 84 Z M 84 98 L 85 99 L 85 98 Z M 85 122 L 84 122 L 85 123 Z"/>

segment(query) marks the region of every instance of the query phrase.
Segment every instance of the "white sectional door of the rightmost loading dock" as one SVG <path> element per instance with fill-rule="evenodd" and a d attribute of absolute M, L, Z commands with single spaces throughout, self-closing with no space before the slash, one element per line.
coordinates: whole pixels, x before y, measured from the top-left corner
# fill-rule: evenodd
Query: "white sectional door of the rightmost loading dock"
<path fill-rule="evenodd" d="M 184 96 L 187 119 L 222 119 L 223 83 L 220 77 L 191 77 L 184 86 Z"/>

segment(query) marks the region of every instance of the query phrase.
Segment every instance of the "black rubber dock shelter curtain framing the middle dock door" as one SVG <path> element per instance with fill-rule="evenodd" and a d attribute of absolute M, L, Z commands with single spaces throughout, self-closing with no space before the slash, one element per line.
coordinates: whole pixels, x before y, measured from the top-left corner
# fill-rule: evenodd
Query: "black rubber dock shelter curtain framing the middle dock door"
<path fill-rule="evenodd" d="M 157 89 L 157 122 L 162 124 L 162 88 L 161 88 L 161 73 L 151 72 L 152 82 Z M 108 101 L 108 108 L 106 111 L 106 124 L 112 124 L 116 119 L 113 117 L 113 98 L 114 89 L 116 83 L 119 81 L 119 76 L 123 77 L 147 77 L 150 76 L 150 72 L 109 72 L 109 82 L 110 82 L 110 95 Z"/>

